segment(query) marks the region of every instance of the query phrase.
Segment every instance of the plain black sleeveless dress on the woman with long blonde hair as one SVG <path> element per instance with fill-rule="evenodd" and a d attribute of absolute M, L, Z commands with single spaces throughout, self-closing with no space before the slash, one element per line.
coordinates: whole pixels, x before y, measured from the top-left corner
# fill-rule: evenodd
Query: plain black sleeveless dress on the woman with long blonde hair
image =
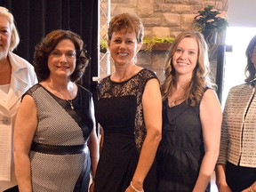
<path fill-rule="evenodd" d="M 204 157 L 199 106 L 163 103 L 163 137 L 157 151 L 157 192 L 191 192 Z M 210 185 L 206 191 L 210 191 Z"/>

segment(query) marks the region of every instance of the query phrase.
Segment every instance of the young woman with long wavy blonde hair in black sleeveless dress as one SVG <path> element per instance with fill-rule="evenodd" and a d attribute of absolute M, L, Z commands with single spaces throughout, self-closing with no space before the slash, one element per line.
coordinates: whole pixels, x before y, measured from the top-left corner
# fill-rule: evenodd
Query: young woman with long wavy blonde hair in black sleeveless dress
<path fill-rule="evenodd" d="M 221 108 L 208 77 L 204 36 L 182 32 L 166 63 L 157 191 L 210 191 L 220 148 Z"/>

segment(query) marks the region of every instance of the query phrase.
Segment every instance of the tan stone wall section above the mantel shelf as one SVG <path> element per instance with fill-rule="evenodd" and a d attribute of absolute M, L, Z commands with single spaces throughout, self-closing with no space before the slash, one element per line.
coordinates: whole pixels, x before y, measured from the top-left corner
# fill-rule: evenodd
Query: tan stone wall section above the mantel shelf
<path fill-rule="evenodd" d="M 106 2 L 101 3 L 105 10 Z M 145 36 L 175 37 L 192 28 L 196 13 L 207 4 L 228 9 L 227 0 L 111 0 L 111 17 L 122 12 L 134 13 L 143 21 Z"/>

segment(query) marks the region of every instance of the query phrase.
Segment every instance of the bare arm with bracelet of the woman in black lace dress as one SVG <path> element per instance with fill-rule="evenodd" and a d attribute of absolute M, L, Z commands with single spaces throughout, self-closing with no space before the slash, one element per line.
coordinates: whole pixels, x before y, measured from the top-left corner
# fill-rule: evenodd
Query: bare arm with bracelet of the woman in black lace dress
<path fill-rule="evenodd" d="M 162 98 L 156 79 L 151 79 L 146 84 L 142 96 L 142 107 L 147 136 L 143 142 L 140 159 L 132 178 L 132 186 L 140 190 L 143 188 L 143 181 L 154 162 L 156 149 L 162 139 Z M 129 186 L 126 191 L 134 190 Z"/>

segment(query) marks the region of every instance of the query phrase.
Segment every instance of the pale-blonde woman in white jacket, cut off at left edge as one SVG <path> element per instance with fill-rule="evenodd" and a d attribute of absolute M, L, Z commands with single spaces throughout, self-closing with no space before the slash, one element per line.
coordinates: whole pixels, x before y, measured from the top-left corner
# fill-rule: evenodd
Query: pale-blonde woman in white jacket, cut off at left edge
<path fill-rule="evenodd" d="M 12 13 L 0 7 L 0 191 L 19 191 L 14 177 L 12 131 L 20 98 L 37 83 L 33 66 L 12 52 L 20 43 Z"/>

